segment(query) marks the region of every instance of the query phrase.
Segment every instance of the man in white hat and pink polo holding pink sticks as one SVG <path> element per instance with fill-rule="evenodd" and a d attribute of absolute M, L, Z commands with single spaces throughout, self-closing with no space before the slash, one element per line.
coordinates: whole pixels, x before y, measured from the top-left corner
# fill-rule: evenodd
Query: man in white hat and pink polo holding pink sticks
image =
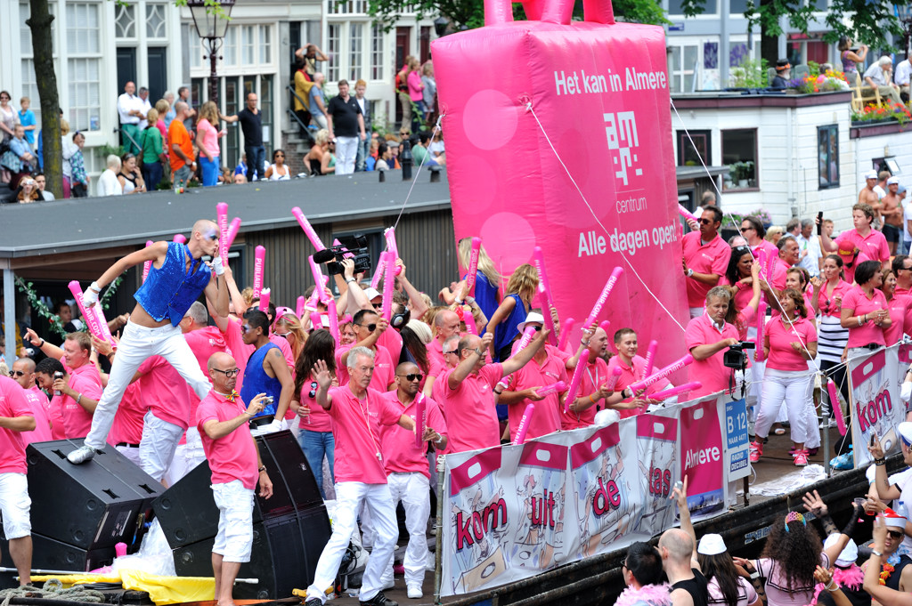
<path fill-rule="evenodd" d="M 544 316 L 541 312 L 533 310 L 526 316 L 525 322 L 516 326 L 520 334 L 532 326 L 536 331 L 541 331 L 544 326 Z M 558 381 L 564 382 L 564 389 L 554 391 L 548 395 L 538 395 L 536 390 L 540 387 L 553 385 Z M 497 404 L 507 406 L 507 416 L 510 421 L 510 439 L 516 437 L 519 424 L 523 420 L 526 406 L 535 403 L 534 414 L 528 420 L 529 429 L 526 439 L 546 436 L 561 428 L 561 414 L 564 412 L 564 394 L 569 387 L 567 371 L 564 365 L 564 356 L 557 354 L 557 348 L 545 344 L 532 356 L 532 361 L 524 365 L 507 380 L 507 387 L 503 389 Z"/>

